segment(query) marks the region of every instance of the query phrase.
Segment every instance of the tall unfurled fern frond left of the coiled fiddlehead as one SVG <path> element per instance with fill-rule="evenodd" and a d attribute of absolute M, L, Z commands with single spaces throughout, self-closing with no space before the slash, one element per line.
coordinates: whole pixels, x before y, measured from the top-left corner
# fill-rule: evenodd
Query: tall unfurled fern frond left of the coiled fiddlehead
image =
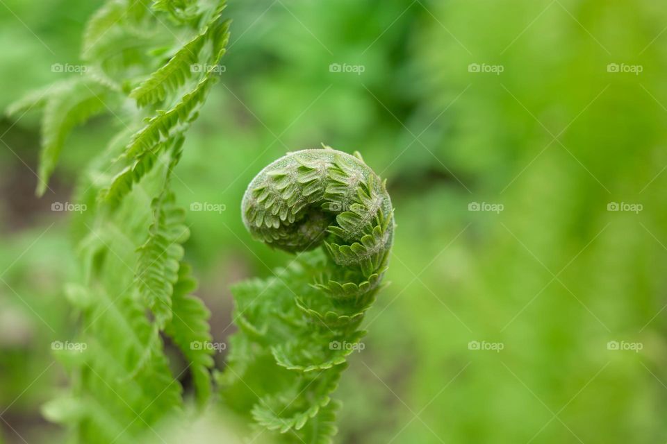
<path fill-rule="evenodd" d="M 81 74 L 9 110 L 43 110 L 40 195 L 74 126 L 108 114 L 118 129 L 76 193 L 86 205 L 74 215 L 81 276 L 67 297 L 79 313 L 75 340 L 87 347 L 58 351 L 72 388 L 44 409 L 74 442 L 144 441 L 160 420 L 187 410 L 185 375 L 200 405 L 211 394 L 213 350 L 201 345 L 211 341 L 209 314 L 190 294 L 181 246 L 188 227 L 170 184 L 227 44 L 224 6 L 108 0 L 85 28 Z M 182 366 L 167 359 L 165 338 L 181 350 Z"/>

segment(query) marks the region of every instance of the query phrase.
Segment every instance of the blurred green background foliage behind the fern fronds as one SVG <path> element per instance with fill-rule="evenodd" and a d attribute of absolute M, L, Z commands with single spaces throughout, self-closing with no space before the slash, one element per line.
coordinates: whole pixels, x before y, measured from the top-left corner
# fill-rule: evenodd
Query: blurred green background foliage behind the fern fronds
<path fill-rule="evenodd" d="M 0 108 L 64 78 L 51 65 L 78 62 L 97 6 L 0 1 Z M 233 331 L 230 284 L 290 259 L 243 228 L 245 186 L 324 142 L 387 178 L 397 221 L 338 442 L 667 441 L 666 3 L 261 0 L 227 15 L 224 72 L 174 180 L 183 207 L 216 209 L 188 211 L 186 244 L 216 340 Z M 40 413 L 67 387 L 51 341 L 76 329 L 76 227 L 51 205 L 113 133 L 77 129 L 38 199 L 38 118 L 0 121 L 6 443 L 65 434 Z"/>

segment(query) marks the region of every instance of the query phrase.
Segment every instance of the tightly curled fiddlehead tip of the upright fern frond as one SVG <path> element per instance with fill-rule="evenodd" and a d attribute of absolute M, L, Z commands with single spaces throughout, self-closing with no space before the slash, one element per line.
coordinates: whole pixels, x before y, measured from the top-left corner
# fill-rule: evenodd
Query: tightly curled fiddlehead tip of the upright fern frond
<path fill-rule="evenodd" d="M 329 240 L 343 249 L 345 264 L 361 263 L 391 244 L 389 195 L 360 155 L 322 147 L 288 153 L 263 169 L 243 198 L 243 221 L 275 248 L 294 253 Z"/>

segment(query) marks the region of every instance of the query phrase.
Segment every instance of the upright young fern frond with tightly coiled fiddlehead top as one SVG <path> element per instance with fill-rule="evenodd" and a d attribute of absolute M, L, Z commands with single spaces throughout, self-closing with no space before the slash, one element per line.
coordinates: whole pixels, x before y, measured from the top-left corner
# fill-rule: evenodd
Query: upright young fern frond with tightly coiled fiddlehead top
<path fill-rule="evenodd" d="M 233 289 L 239 331 L 223 396 L 277 442 L 330 443 L 330 395 L 359 349 L 393 241 L 386 185 L 359 153 L 297 151 L 252 180 L 242 216 L 256 239 L 297 257 Z"/>

